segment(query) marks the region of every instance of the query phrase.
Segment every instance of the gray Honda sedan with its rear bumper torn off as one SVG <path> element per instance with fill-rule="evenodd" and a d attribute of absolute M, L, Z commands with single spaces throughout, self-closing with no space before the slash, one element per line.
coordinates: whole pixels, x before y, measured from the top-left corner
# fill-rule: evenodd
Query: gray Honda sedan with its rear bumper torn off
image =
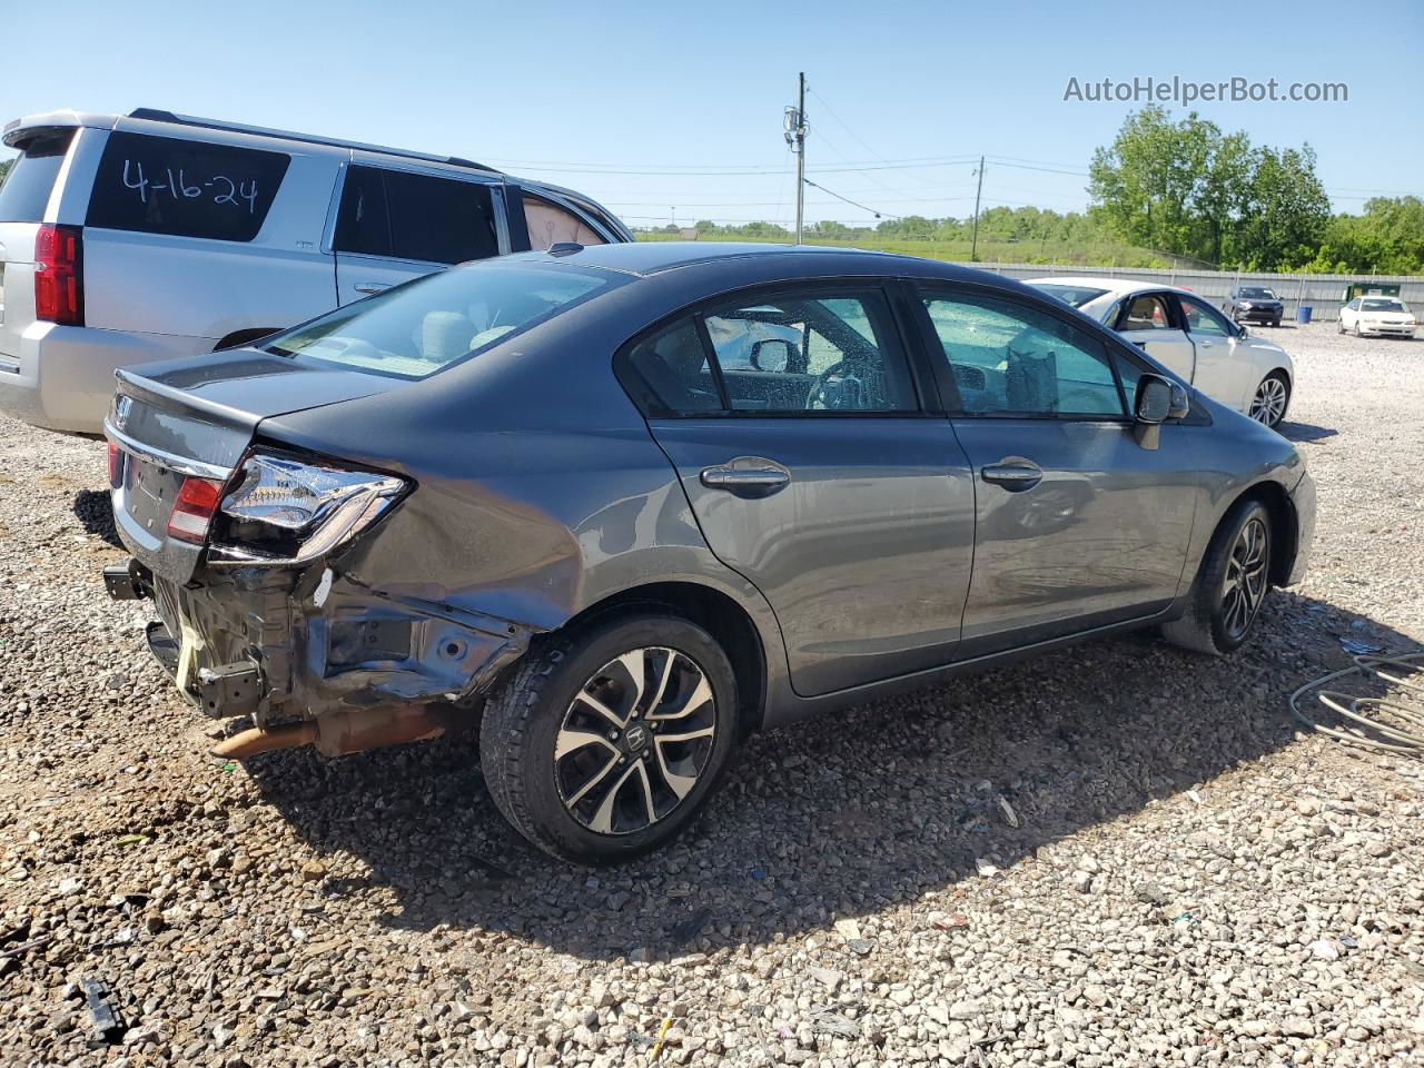
<path fill-rule="evenodd" d="M 478 725 L 531 842 L 686 826 L 749 732 L 1300 578 L 1273 430 L 1061 300 L 816 248 L 484 261 L 118 375 L 117 598 L 216 752 Z"/>

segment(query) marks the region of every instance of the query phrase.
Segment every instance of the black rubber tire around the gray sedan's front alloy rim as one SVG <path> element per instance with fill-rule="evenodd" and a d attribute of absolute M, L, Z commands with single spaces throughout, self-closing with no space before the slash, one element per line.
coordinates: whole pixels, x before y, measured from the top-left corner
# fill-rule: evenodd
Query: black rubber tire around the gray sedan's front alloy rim
<path fill-rule="evenodd" d="M 1239 572 L 1242 560 L 1240 543 L 1243 531 L 1253 527 L 1263 538 L 1259 561 L 1259 588 L 1250 600 L 1249 611 L 1243 625 L 1237 625 L 1235 618 L 1229 619 L 1227 608 L 1227 571 L 1232 577 Z M 1273 551 L 1270 513 L 1257 500 L 1240 500 L 1222 518 L 1212 534 L 1212 541 L 1206 547 L 1202 567 L 1198 568 L 1196 580 L 1188 592 L 1186 612 L 1180 619 L 1162 624 L 1162 637 L 1183 649 L 1195 649 L 1213 656 L 1222 656 L 1239 649 L 1250 637 L 1256 619 L 1260 617 L 1260 605 L 1270 592 L 1270 554 Z M 1257 574 L 1253 564 L 1252 575 Z"/>

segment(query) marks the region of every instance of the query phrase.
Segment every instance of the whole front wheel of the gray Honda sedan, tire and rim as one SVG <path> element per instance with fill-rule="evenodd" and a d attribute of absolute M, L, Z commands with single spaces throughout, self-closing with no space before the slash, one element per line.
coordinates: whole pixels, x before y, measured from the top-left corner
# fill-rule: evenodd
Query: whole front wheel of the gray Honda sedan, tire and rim
<path fill-rule="evenodd" d="M 1180 619 L 1162 637 L 1186 649 L 1222 655 L 1250 637 L 1270 590 L 1270 514 L 1256 500 L 1237 501 L 1212 535 Z"/>

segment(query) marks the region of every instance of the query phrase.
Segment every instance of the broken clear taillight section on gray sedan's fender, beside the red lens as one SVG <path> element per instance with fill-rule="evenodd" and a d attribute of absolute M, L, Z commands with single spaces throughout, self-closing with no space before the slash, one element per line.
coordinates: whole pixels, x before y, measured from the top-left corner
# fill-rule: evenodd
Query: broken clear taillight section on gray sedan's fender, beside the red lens
<path fill-rule="evenodd" d="M 222 498 L 214 558 L 305 564 L 346 545 L 409 488 L 389 474 L 252 453 Z"/>

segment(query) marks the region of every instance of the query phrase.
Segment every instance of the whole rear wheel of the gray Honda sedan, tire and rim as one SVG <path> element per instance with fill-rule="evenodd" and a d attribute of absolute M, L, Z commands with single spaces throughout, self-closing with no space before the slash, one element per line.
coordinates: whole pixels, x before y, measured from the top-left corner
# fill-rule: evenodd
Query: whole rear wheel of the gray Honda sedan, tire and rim
<path fill-rule="evenodd" d="M 545 641 L 490 699 L 480 762 L 514 829 L 562 860 L 617 863 L 664 844 L 736 745 L 736 676 L 671 614 L 595 619 Z"/>

